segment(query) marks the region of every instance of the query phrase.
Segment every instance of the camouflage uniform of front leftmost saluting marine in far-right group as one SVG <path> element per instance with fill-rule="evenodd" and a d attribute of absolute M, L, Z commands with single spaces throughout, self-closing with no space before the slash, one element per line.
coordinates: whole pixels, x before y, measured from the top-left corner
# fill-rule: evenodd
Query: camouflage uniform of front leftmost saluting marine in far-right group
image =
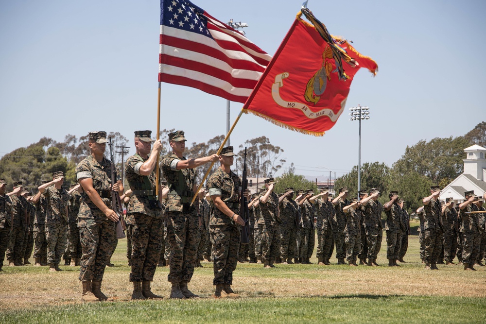
<path fill-rule="evenodd" d="M 440 255 L 443 240 L 439 219 L 442 209 L 439 201 L 431 199 L 429 204 L 424 206 L 424 212 L 425 263 L 435 264 Z"/>

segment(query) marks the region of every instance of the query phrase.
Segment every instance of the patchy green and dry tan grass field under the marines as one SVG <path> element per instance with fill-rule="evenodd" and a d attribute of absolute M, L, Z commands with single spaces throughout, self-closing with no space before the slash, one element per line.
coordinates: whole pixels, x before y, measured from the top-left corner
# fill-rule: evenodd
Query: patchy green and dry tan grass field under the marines
<path fill-rule="evenodd" d="M 112 258 L 116 266 L 106 268 L 103 282 L 105 294 L 117 302 L 82 303 L 79 267 L 49 273 L 47 267 L 5 266 L 0 323 L 485 323 L 486 267 L 465 272 L 461 266 L 438 265 L 439 271 L 426 271 L 418 238 L 411 236 L 407 263 L 389 268 L 384 245 L 378 258 L 382 267 L 238 264 L 233 275 L 238 300 L 211 297 L 209 262 L 195 269 L 190 283 L 202 298 L 169 300 L 169 269 L 157 268 L 152 287 L 164 300 L 133 302 L 123 239 Z"/>

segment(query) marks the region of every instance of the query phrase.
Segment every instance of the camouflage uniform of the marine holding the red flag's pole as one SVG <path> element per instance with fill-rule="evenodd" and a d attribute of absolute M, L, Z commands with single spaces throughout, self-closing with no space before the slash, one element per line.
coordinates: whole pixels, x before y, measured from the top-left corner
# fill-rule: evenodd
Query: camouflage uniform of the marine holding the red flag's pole
<path fill-rule="evenodd" d="M 165 214 L 167 215 L 167 236 L 171 244 L 171 283 L 190 282 L 196 264 L 196 239 L 199 219 L 196 208 L 189 206 L 193 196 L 195 172 L 192 169 L 177 170 L 177 163 L 186 160 L 175 153 L 162 160 L 162 172 L 169 185 Z M 184 206 L 183 206 L 184 205 Z"/>

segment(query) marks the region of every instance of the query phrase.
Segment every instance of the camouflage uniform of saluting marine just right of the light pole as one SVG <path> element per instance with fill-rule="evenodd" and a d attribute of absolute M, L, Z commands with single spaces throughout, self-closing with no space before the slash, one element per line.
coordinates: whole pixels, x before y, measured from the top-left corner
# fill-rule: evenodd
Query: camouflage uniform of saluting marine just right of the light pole
<path fill-rule="evenodd" d="M 364 206 L 364 227 L 368 258 L 376 260 L 382 248 L 382 210 L 383 205 L 378 200 L 370 199 Z"/>

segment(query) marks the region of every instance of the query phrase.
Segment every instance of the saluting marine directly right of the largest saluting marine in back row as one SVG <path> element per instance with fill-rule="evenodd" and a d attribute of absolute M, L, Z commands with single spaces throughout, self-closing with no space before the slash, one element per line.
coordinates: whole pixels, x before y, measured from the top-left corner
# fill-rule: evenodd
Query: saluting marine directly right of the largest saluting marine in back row
<path fill-rule="evenodd" d="M 297 225 L 299 219 L 298 205 L 292 198 L 294 188 L 285 188 L 285 197 L 280 200 L 280 257 L 284 264 L 293 264 L 292 257 L 297 249 Z"/>

